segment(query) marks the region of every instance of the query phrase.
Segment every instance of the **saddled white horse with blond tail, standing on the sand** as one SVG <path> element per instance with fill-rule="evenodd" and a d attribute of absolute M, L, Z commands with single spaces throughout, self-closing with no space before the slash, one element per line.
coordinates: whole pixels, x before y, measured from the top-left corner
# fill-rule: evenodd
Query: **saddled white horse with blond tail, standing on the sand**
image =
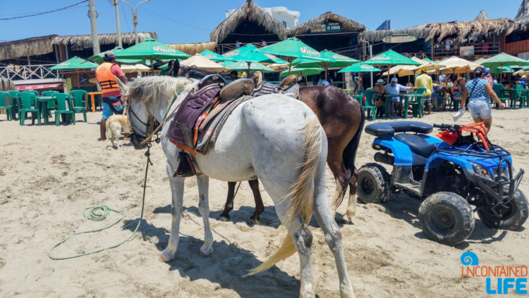
<path fill-rule="evenodd" d="M 167 109 L 171 113 L 178 108 L 196 84 L 196 80 L 169 76 L 138 78 L 130 83 L 127 98 L 135 137 L 145 138 L 149 117 L 162 122 Z M 169 107 L 171 98 L 179 91 L 182 91 L 181 94 Z M 165 137 L 169 122 L 166 121 L 162 128 L 162 148 L 167 157 L 166 170 L 171 184 L 172 225 L 161 261 L 171 261 L 176 255 L 184 188 L 184 179 L 174 177 L 180 150 Z M 341 231 L 327 201 L 326 157 L 325 133 L 315 114 L 303 102 L 285 95 L 265 95 L 236 107 L 208 153 L 196 155 L 198 209 L 205 229 L 204 244 L 199 254 L 208 256 L 213 252 L 213 235 L 209 228 L 209 177 L 221 181 L 258 178 L 274 201 L 276 213 L 288 229 L 288 234 L 276 254 L 250 274 L 266 270 L 298 251 L 300 297 L 314 297 L 312 234 L 306 224 L 314 212 L 334 254 L 341 297 L 354 297 L 343 256 Z"/>

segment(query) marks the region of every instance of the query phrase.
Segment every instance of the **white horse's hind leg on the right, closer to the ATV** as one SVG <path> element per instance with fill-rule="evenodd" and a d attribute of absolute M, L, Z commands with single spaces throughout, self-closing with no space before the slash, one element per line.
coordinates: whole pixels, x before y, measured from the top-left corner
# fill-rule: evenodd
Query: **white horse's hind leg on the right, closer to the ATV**
<path fill-rule="evenodd" d="M 334 254 L 334 261 L 336 261 L 336 268 L 338 269 L 338 277 L 340 280 L 341 297 L 353 298 L 355 295 L 347 273 L 345 256 L 343 256 L 341 231 L 334 220 L 331 208 L 329 208 L 324 174 L 325 167 L 324 165 L 320 165 L 315 179 L 314 215 L 320 227 L 322 227 L 329 249 Z"/>

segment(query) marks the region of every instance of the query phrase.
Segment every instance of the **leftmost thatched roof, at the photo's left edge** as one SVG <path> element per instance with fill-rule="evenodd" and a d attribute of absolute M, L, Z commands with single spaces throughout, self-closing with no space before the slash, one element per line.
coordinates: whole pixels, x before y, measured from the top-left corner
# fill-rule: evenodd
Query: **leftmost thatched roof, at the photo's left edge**
<path fill-rule="evenodd" d="M 53 52 L 51 40 L 57 35 L 31 37 L 25 40 L 0 43 L 0 60 L 14 59 L 23 56 L 36 56 Z"/>

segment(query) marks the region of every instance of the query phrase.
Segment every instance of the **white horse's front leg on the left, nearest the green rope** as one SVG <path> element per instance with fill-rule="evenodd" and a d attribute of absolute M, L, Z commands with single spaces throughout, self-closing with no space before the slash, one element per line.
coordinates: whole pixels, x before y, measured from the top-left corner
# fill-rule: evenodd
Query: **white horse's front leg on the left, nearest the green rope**
<path fill-rule="evenodd" d="M 168 262 L 174 259 L 176 249 L 178 248 L 178 230 L 180 229 L 180 218 L 182 216 L 182 202 L 183 202 L 183 181 L 184 178 L 173 177 L 175 169 L 167 162 L 166 165 L 167 177 L 169 177 L 169 184 L 171 184 L 171 236 L 169 236 L 169 243 L 166 249 L 162 251 L 160 261 Z"/>

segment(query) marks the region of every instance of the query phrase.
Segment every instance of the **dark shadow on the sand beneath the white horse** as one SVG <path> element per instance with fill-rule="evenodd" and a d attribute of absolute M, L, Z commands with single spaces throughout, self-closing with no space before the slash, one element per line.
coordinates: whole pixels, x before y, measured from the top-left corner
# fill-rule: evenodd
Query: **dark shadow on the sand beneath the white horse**
<path fill-rule="evenodd" d="M 170 208 L 169 208 L 170 210 Z M 124 230 L 133 231 L 138 220 L 129 220 L 123 225 Z M 169 231 L 156 227 L 142 220 L 138 232 L 143 239 L 157 237 L 159 251 L 166 248 Z M 208 257 L 197 254 L 202 239 L 191 235 L 180 234 L 176 258 L 167 263 L 169 270 L 177 270 L 182 278 L 191 281 L 207 279 L 224 289 L 237 292 L 240 297 L 296 297 L 299 294 L 300 282 L 291 275 L 273 266 L 257 275 L 245 276 L 250 269 L 260 265 L 251 251 L 235 243 L 214 242 L 214 253 Z M 215 296 L 212 293 L 212 296 Z"/>

